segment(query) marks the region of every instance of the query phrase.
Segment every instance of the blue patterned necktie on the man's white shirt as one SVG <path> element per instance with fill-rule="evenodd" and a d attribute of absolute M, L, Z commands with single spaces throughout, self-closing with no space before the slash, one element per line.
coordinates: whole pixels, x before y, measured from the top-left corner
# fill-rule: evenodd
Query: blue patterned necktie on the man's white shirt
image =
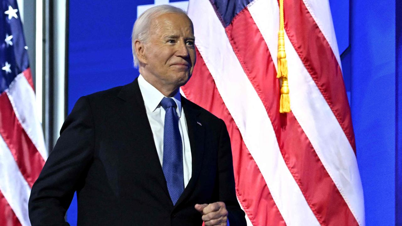
<path fill-rule="evenodd" d="M 165 109 L 165 125 L 163 129 L 163 161 L 162 170 L 165 175 L 170 199 L 176 204 L 184 191 L 183 179 L 183 145 L 178 129 L 178 115 L 176 102 L 172 98 L 164 97 L 160 105 Z"/>

